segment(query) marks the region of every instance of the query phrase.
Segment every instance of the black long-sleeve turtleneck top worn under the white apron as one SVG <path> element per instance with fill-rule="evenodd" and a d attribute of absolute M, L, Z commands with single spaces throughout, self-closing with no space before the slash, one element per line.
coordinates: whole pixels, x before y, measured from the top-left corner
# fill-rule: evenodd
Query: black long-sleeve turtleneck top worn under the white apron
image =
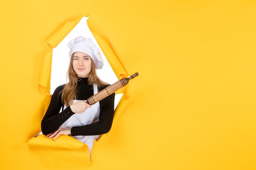
<path fill-rule="evenodd" d="M 61 102 L 61 91 L 63 90 L 64 86 L 65 84 L 58 86 L 54 91 L 49 107 L 45 113 L 45 116 L 43 117 L 43 120 L 41 121 L 41 130 L 44 135 L 55 132 L 68 118 L 76 114 L 72 112 L 70 106 L 59 113 L 63 107 Z M 99 91 L 103 90 L 107 86 L 109 85 L 98 87 Z M 81 78 L 81 80 L 78 82 L 76 94 L 77 100 L 86 100 L 94 94 L 93 86 L 88 85 L 88 78 Z M 114 100 L 115 93 L 109 95 L 105 99 L 102 99 L 99 102 L 99 121 L 84 126 L 72 127 L 71 136 L 101 135 L 109 132 L 114 117 Z"/>

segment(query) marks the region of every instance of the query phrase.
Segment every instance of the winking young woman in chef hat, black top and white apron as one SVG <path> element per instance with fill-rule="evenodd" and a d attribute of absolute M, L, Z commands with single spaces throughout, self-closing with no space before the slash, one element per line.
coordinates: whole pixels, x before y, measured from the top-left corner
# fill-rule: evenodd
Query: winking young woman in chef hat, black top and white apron
<path fill-rule="evenodd" d="M 41 129 L 46 137 L 54 137 L 53 140 L 59 135 L 70 135 L 88 145 L 91 152 L 94 140 L 109 132 L 112 126 L 115 93 L 92 106 L 87 104 L 86 99 L 109 86 L 96 73 L 96 69 L 102 68 L 103 60 L 90 38 L 79 36 L 68 47 L 69 82 L 54 91 Z"/>

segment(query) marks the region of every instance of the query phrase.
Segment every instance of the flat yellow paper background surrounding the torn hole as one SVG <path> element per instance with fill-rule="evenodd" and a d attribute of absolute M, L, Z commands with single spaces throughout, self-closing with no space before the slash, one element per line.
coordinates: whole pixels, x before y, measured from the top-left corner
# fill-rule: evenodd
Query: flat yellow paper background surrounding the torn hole
<path fill-rule="evenodd" d="M 256 169 L 255 8 L 252 0 L 1 1 L 0 168 Z M 46 40 L 88 15 L 124 71 L 139 73 L 91 163 L 85 149 L 27 146 L 49 104 Z"/>

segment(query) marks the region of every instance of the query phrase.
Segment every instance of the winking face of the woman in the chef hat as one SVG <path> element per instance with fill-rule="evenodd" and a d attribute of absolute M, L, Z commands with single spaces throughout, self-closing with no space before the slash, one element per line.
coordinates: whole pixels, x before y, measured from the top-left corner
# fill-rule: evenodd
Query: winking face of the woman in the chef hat
<path fill-rule="evenodd" d="M 77 77 L 89 77 L 92 69 L 92 59 L 88 54 L 75 52 L 72 65 Z"/>

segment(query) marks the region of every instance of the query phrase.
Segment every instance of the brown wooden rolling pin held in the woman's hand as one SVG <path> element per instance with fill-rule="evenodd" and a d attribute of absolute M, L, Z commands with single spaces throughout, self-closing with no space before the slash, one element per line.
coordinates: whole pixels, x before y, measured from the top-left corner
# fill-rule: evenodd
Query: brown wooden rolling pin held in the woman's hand
<path fill-rule="evenodd" d="M 96 95 L 93 95 L 92 97 L 89 97 L 86 101 L 86 103 L 93 105 L 105 97 L 111 95 L 112 93 L 115 93 L 115 91 L 119 90 L 120 88 L 124 87 L 126 84 L 128 84 L 130 79 L 133 79 L 134 77 L 137 77 L 139 73 L 135 73 L 131 75 L 128 78 L 122 78 L 119 81 L 115 82 L 114 84 L 111 84 L 110 86 L 104 88 L 102 91 L 97 93 Z"/>

